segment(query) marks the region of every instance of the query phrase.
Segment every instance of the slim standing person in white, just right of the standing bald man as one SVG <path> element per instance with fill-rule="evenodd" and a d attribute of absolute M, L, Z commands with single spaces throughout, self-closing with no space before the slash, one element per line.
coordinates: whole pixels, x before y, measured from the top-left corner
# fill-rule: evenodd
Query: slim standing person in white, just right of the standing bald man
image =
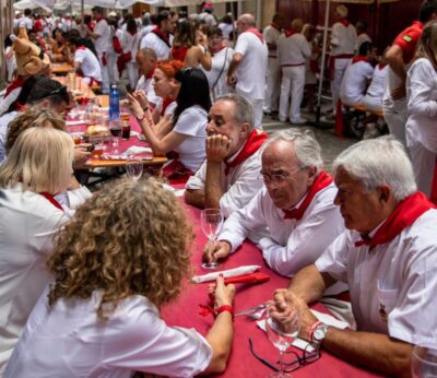
<path fill-rule="evenodd" d="M 284 19 L 280 13 L 273 15 L 272 23 L 264 28 L 262 36 L 269 49 L 265 79 L 264 113 L 277 111 L 280 101 L 281 67 L 277 61 L 277 38 L 281 35 Z"/>

